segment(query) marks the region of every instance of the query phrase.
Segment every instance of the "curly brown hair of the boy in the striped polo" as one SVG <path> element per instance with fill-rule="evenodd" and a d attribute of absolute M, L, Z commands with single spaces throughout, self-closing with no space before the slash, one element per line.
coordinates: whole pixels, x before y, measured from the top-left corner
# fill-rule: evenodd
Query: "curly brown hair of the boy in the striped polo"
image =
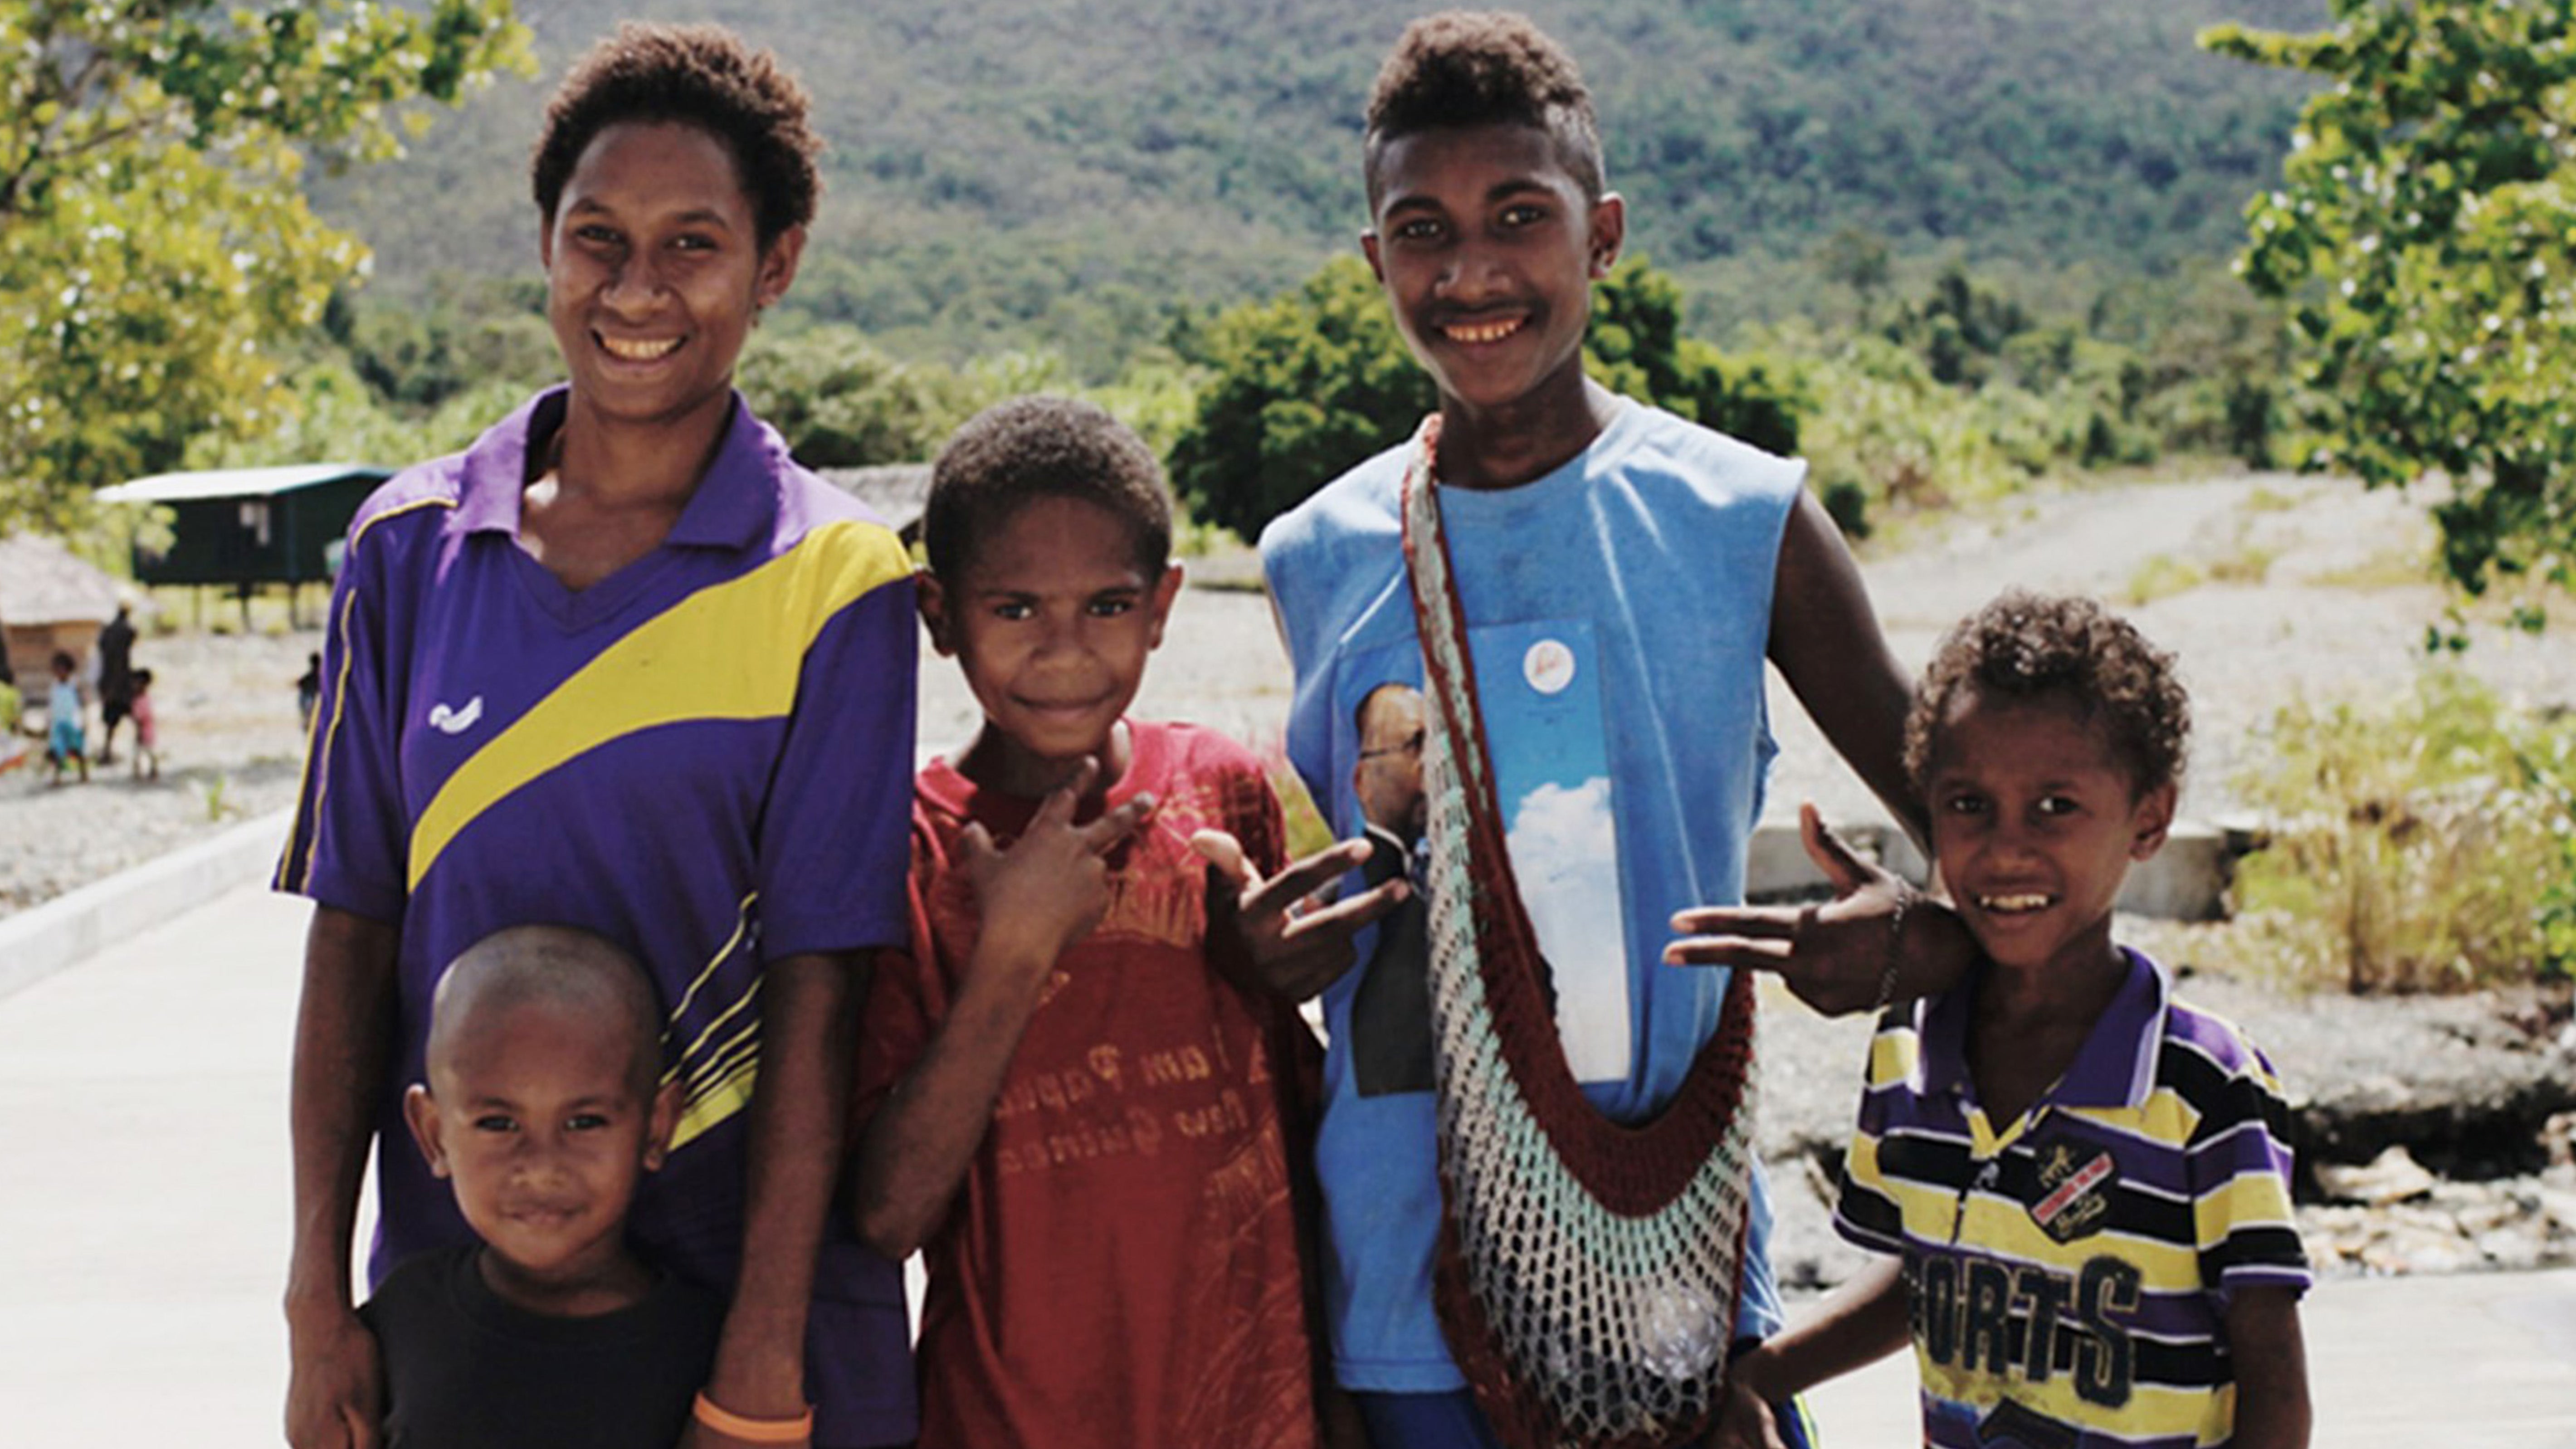
<path fill-rule="evenodd" d="M 2063 699 L 2105 727 L 2133 794 L 2182 784 L 2192 699 L 2174 678 L 2174 655 L 2092 598 L 2012 588 L 1942 637 L 1906 714 L 1906 776 L 1917 792 L 1929 784 L 1942 717 L 1968 688 L 2012 701 Z"/>

